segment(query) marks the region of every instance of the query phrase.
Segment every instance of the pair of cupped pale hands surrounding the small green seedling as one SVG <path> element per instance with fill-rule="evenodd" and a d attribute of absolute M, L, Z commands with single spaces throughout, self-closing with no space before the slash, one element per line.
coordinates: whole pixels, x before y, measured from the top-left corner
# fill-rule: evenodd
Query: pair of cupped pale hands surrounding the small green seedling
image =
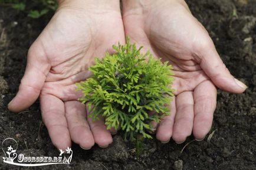
<path fill-rule="evenodd" d="M 175 97 L 170 115 L 154 124 L 156 138 L 180 144 L 193 133 L 201 141 L 209 132 L 216 107 L 216 87 L 241 93 L 247 88 L 225 67 L 212 39 L 185 1 L 59 0 L 59 7 L 28 51 L 18 94 L 9 103 L 21 112 L 40 97 L 42 120 L 52 143 L 60 149 L 71 141 L 83 149 L 113 142 L 104 118 L 93 122 L 77 101 L 83 94 L 76 82 L 86 80 L 97 56 L 113 53 L 112 45 L 126 36 L 143 52 L 173 65 Z"/>

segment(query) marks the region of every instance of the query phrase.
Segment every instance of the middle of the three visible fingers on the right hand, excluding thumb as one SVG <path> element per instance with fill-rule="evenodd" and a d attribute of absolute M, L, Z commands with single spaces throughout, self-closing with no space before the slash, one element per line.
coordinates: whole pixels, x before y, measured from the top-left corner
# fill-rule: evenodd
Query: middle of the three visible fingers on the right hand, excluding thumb
<path fill-rule="evenodd" d="M 193 93 L 182 92 L 176 96 L 176 115 L 173 125 L 173 140 L 180 144 L 191 135 L 193 128 Z"/>

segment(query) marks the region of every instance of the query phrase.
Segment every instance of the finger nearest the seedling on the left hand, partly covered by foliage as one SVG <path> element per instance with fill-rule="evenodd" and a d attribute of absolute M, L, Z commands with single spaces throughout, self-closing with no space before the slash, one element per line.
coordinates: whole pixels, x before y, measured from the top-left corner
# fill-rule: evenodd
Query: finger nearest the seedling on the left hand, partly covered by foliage
<path fill-rule="evenodd" d="M 110 131 L 108 131 L 106 128 L 104 118 L 99 116 L 99 120 L 93 121 L 93 119 L 89 117 L 90 113 L 88 111 L 88 106 L 86 106 L 87 120 L 88 124 L 90 125 L 91 132 L 93 132 L 94 141 L 101 148 L 106 148 L 113 142 L 113 139 Z"/>

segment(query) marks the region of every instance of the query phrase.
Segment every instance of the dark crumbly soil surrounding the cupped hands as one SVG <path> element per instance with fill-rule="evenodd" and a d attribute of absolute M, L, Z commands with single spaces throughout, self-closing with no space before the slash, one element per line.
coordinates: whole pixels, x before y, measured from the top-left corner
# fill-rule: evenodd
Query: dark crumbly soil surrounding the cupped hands
<path fill-rule="evenodd" d="M 94 146 L 85 151 L 73 144 L 71 165 L 31 169 L 256 169 L 256 1 L 191 0 L 188 4 L 208 29 L 227 68 L 248 85 L 241 95 L 218 91 L 211 140 L 209 135 L 201 142 L 191 136 L 181 145 L 149 140 L 137 158 L 136 147 L 116 135 L 106 149 Z M 9 112 L 6 105 L 18 91 L 29 45 L 49 19 L 50 14 L 31 19 L 0 5 L 0 141 L 15 138 L 18 150 L 31 156 L 59 154 L 42 124 L 39 104 L 20 114 Z M 25 168 L 0 161 L 0 169 Z"/>

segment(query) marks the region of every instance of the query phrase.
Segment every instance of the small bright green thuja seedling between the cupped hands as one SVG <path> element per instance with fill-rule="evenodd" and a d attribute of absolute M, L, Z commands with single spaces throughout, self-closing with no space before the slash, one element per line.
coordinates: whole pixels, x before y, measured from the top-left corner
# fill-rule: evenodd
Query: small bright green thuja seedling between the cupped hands
<path fill-rule="evenodd" d="M 83 91 L 79 100 L 87 103 L 93 121 L 104 116 L 107 129 L 120 128 L 126 136 L 152 138 L 151 122 L 169 115 L 172 100 L 172 66 L 162 64 L 147 52 L 140 53 L 127 39 L 125 45 L 113 45 L 116 53 L 100 60 L 89 70 L 93 76 L 77 84 Z M 147 58 L 147 59 L 146 59 Z"/>

